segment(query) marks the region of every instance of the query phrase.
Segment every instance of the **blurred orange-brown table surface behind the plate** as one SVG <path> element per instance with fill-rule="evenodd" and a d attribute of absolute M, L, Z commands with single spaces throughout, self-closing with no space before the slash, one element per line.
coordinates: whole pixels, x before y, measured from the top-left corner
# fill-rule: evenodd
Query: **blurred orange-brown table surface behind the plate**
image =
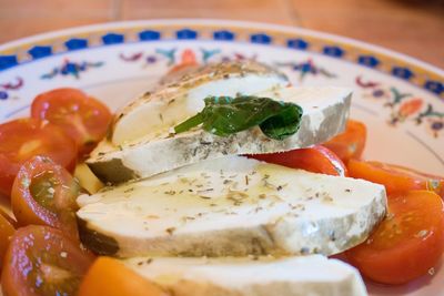
<path fill-rule="evenodd" d="M 297 25 L 444 68 L 443 0 L 0 0 L 0 43 L 82 24 L 214 18 Z"/>

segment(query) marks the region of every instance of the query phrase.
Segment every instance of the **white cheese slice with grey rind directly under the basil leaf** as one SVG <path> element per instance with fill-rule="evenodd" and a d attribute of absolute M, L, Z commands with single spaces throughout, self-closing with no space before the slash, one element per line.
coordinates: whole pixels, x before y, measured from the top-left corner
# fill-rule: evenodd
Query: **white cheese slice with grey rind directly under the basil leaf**
<path fill-rule="evenodd" d="M 351 102 L 351 91 L 341 88 L 289 86 L 263 91 L 256 95 L 301 105 L 304 114 L 300 130 L 284 141 L 278 141 L 266 137 L 259 127 L 230 136 L 216 136 L 200 127 L 171 134 L 174 126 L 172 124 L 169 130 L 155 135 L 153 132 L 158 130 L 153 127 L 153 132 L 147 136 L 122 144 L 119 149 L 112 143 L 103 142 L 93 151 L 87 164 L 103 182 L 121 183 L 223 155 L 272 153 L 306 147 L 324 142 L 343 131 Z M 180 112 L 174 110 L 172 108 L 168 112 Z M 152 114 L 150 118 L 158 116 Z M 181 121 L 176 121 L 179 122 Z M 134 129 L 137 125 L 134 122 Z"/>

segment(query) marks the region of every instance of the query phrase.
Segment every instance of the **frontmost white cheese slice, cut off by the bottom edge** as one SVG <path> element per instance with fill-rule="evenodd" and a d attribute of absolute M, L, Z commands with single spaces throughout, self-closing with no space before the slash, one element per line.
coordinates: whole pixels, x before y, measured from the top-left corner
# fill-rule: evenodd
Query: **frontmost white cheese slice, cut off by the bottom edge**
<path fill-rule="evenodd" d="M 365 286 L 353 267 L 321 255 L 286 258 L 137 257 L 124 263 L 175 296 L 366 295 Z"/>

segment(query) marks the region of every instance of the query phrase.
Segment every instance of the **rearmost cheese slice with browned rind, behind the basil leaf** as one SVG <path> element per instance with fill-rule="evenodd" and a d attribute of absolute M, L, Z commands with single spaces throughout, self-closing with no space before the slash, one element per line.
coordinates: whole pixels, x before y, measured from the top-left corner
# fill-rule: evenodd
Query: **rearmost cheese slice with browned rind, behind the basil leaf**
<path fill-rule="evenodd" d="M 111 143 L 115 146 L 155 139 L 171 126 L 195 115 L 209 95 L 251 94 L 289 84 L 286 76 L 264 64 L 226 62 L 209 64 L 176 81 L 144 93 L 118 112 Z"/>

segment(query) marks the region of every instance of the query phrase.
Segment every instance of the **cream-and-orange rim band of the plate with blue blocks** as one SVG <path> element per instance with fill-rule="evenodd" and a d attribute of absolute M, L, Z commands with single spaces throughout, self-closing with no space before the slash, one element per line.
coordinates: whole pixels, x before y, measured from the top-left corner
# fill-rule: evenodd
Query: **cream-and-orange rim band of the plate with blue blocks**
<path fill-rule="evenodd" d="M 188 29 L 188 27 L 203 27 L 206 29 L 214 27 L 214 30 L 225 30 L 225 29 L 244 29 L 244 30 L 254 30 L 255 33 L 252 34 L 252 32 L 250 32 L 250 42 L 252 43 L 259 43 L 259 44 L 265 44 L 265 45 L 274 45 L 274 47 L 285 47 L 285 48 L 293 48 L 295 50 L 306 50 L 306 48 L 299 48 L 297 45 L 290 45 L 290 43 L 285 43 L 291 41 L 291 39 L 285 39 L 285 38 L 291 38 L 292 34 L 295 34 L 295 38 L 297 37 L 305 37 L 305 38 L 314 38 L 314 39 L 319 39 L 322 41 L 327 41 L 331 47 L 334 49 L 337 49 L 337 44 L 341 47 L 352 47 L 352 50 L 349 52 L 349 49 L 345 51 L 345 55 L 350 55 L 350 53 L 352 53 L 351 57 L 347 57 L 345 59 L 343 59 L 342 53 L 337 57 L 331 53 L 325 52 L 326 45 L 324 44 L 324 52 L 322 51 L 313 51 L 312 49 L 306 50 L 309 52 L 313 52 L 313 53 L 323 53 L 325 55 L 331 55 L 333 58 L 339 58 L 342 59 L 344 61 L 349 61 L 352 63 L 355 63 L 356 65 L 360 67 L 366 67 L 369 69 L 373 69 L 380 72 L 385 72 L 389 74 L 392 74 L 393 76 L 400 79 L 400 80 L 404 80 L 407 83 L 412 83 L 414 85 L 416 85 L 417 88 L 421 89 L 425 89 L 428 92 L 431 92 L 433 95 L 437 96 L 438 99 L 441 99 L 442 101 L 444 100 L 444 70 L 432 65 L 427 62 L 423 62 L 416 58 L 412 58 L 407 54 L 404 53 L 400 53 L 396 52 L 394 50 L 390 50 L 390 49 L 385 49 L 383 47 L 380 45 L 375 45 L 372 43 L 367 43 L 367 42 L 363 42 L 363 41 L 359 41 L 352 38 L 347 38 L 347 37 L 342 37 L 342 35 L 336 35 L 336 34 L 332 34 L 332 33 L 327 33 L 327 32 L 321 32 L 321 31 L 315 31 L 315 30 L 310 30 L 310 29 L 304 29 L 304 28 L 299 28 L 299 27 L 291 27 L 291 25 L 282 25 L 282 24 L 271 24 L 271 23 L 264 23 L 264 22 L 252 22 L 252 21 L 235 21 L 235 20 L 219 20 L 219 19 L 152 19 L 152 20 L 133 20 L 133 21 L 119 21 L 119 22 L 105 22 L 105 23 L 98 23 L 98 24 L 89 24 L 89 25 L 82 25 L 82 27 L 74 27 L 74 28 L 69 28 L 69 29 L 62 29 L 62 30 L 57 30 L 57 31 L 51 31 L 51 32 L 47 32 L 47 33 L 41 33 L 41 34 L 36 34 L 36 35 L 31 35 L 31 37 L 27 37 L 27 38 L 22 38 L 22 39 L 18 39 L 14 41 L 10 41 L 3 44 L 0 44 L 0 60 L 1 58 L 9 58 L 9 57 L 13 57 L 13 59 L 16 59 L 16 62 L 12 62 L 12 65 L 7 65 L 3 67 L 1 64 L 2 61 L 0 61 L 0 72 L 4 72 L 8 71 L 10 69 L 13 69 L 16 67 L 22 65 L 22 64 L 27 64 L 29 62 L 33 62 L 36 60 L 42 59 L 42 58 L 47 58 L 47 57 L 54 57 L 56 54 L 60 54 L 60 53 L 67 53 L 70 52 L 72 49 L 69 49 L 68 45 L 65 45 L 65 50 L 64 51 L 59 51 L 59 52 L 54 52 L 52 53 L 52 48 L 50 49 L 51 52 L 47 55 L 38 55 L 38 57 L 33 57 L 33 54 L 30 52 L 33 48 L 39 48 L 39 47 L 47 47 L 48 44 L 51 43 L 51 41 L 53 41 L 57 38 L 67 38 L 67 42 L 70 40 L 69 38 L 75 39 L 79 38 L 79 34 L 85 34 L 85 33 L 111 33 L 111 32 L 107 32 L 110 30 L 128 30 L 128 29 L 141 29 L 141 30 L 147 30 L 147 29 L 151 29 L 151 30 L 155 30 L 157 27 L 171 27 L 171 28 L 175 28 L 179 32 L 183 29 Z M 143 28 L 145 27 L 145 28 Z M 194 28 L 193 28 L 194 29 Z M 150 31 L 151 32 L 151 31 Z M 215 31 L 213 31 L 215 32 Z M 278 32 L 281 34 L 287 34 L 286 37 L 284 37 L 284 40 L 281 42 L 283 42 L 283 44 L 276 44 L 274 42 L 274 40 L 272 41 L 266 41 L 263 42 L 263 40 L 259 40 L 259 41 L 254 41 L 251 38 L 254 34 L 260 35 L 261 37 L 265 35 L 265 38 L 268 37 L 268 32 Z M 115 32 L 112 32 L 115 33 Z M 163 34 L 163 33 L 162 33 Z M 162 38 L 155 39 L 155 40 L 179 40 L 181 38 L 175 38 L 175 39 L 170 39 L 170 38 L 164 38 L 162 35 Z M 184 38 L 185 40 L 205 40 L 205 38 Z M 148 41 L 150 41 L 151 39 L 149 39 Z M 233 39 L 230 40 L 224 40 L 224 39 L 216 39 L 215 37 L 212 38 L 211 40 L 216 40 L 216 41 L 233 41 Z M 294 39 L 294 40 L 299 40 L 299 39 Z M 142 38 L 139 38 L 139 40 L 135 40 L 135 42 L 143 42 L 145 40 L 143 40 Z M 238 41 L 239 40 L 234 40 Z M 83 50 L 83 49 L 91 49 L 91 48 L 100 48 L 100 47 L 104 47 L 104 45 L 112 45 L 105 43 L 105 41 L 103 40 L 102 44 L 95 44 L 93 47 L 88 45 L 89 40 L 87 42 L 87 45 L 83 48 L 79 48 L 79 49 L 74 49 L 74 50 Z M 128 42 L 127 40 L 123 41 L 123 43 L 132 43 L 132 42 Z M 327 44 L 329 44 L 327 43 Z M 310 43 L 309 43 L 310 44 Z M 28 48 L 26 48 L 28 47 Z M 357 50 L 362 50 L 356 52 L 353 52 L 353 48 L 357 49 Z M 22 50 L 20 52 L 20 49 Z M 342 48 L 340 48 L 342 50 Z M 24 51 L 24 54 L 23 54 Z M 359 54 L 357 57 L 353 57 L 353 54 Z M 367 55 L 365 55 L 367 54 Z M 376 54 L 377 58 L 374 58 L 371 54 Z M 20 58 L 26 55 L 27 58 Z M 32 55 L 32 57 L 29 57 Z M 353 58 L 353 59 L 352 59 Z M 370 58 L 370 59 L 374 59 L 373 61 L 376 61 L 375 63 L 372 62 L 372 60 L 369 61 L 361 61 L 361 58 Z M 389 67 L 391 67 L 389 70 L 382 70 L 380 68 L 380 60 L 383 60 L 384 62 L 386 62 L 389 64 Z M 373 63 L 373 64 L 372 64 Z M 384 64 L 383 67 L 386 68 L 387 64 Z M 413 75 L 412 75 L 412 71 L 410 69 L 414 69 Z M 407 75 L 405 76 L 405 73 L 401 73 L 401 75 L 398 73 L 394 73 L 395 70 L 401 70 L 401 71 L 407 71 Z M 410 74 L 408 74 L 410 72 Z M 418 75 L 417 75 L 418 74 Z M 404 76 L 403 76 L 404 75 Z M 411 79 L 413 76 L 413 79 Z M 413 82 L 412 82 L 413 80 Z"/>

